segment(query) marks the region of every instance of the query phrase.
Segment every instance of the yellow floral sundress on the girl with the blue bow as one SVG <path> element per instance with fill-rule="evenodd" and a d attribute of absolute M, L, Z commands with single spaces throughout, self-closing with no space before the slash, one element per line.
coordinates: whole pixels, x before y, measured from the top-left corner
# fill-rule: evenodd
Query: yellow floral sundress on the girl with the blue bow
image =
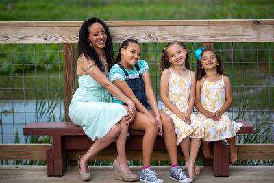
<path fill-rule="evenodd" d="M 223 76 L 216 82 L 209 82 L 203 78 L 201 88 L 201 105 L 210 112 L 216 112 L 225 104 L 225 82 Z M 206 127 L 203 141 L 218 141 L 231 138 L 236 135 L 242 124 L 236 123 L 229 118 L 228 112 L 223 113 L 219 121 L 207 118 L 198 111 L 198 117 Z"/>

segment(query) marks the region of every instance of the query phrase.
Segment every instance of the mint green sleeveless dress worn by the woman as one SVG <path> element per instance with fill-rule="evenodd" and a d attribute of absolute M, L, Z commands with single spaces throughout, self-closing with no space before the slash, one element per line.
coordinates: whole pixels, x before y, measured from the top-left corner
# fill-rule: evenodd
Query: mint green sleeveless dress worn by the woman
<path fill-rule="evenodd" d="M 83 127 L 86 135 L 95 141 L 101 139 L 119 122 L 127 110 L 112 103 L 112 96 L 90 75 L 78 77 L 79 88 L 69 106 L 69 117 L 75 125 Z"/>

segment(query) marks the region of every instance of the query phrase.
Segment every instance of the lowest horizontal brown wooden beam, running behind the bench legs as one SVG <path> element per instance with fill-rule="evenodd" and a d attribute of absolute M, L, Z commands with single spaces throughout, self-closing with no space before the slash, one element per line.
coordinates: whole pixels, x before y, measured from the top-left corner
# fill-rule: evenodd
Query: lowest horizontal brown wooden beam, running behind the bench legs
<path fill-rule="evenodd" d="M 1 144 L 0 160 L 46 160 L 50 144 Z M 274 160 L 274 144 L 237 144 L 238 160 Z M 67 158 L 76 161 L 85 151 L 67 151 Z M 114 160 L 116 151 L 101 151 L 91 160 Z M 142 151 L 127 151 L 128 160 L 142 160 Z M 166 151 L 153 151 L 152 160 L 169 160 Z M 178 151 L 178 160 L 184 160 Z M 205 160 L 201 151 L 197 160 Z"/>

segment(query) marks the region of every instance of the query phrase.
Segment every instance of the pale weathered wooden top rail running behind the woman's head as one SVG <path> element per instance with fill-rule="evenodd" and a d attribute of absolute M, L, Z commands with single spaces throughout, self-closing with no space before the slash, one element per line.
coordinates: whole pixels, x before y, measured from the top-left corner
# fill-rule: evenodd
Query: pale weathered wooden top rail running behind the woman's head
<path fill-rule="evenodd" d="M 139 42 L 274 42 L 274 19 L 105 21 L 112 40 Z M 0 22 L 0 44 L 77 43 L 83 21 Z M 20 27 L 20 28 L 18 28 Z"/>

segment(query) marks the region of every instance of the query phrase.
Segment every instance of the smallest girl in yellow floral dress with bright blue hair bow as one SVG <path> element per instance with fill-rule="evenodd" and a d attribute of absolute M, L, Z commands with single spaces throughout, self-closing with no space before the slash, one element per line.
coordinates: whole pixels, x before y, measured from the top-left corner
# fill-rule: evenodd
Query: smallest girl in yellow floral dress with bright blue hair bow
<path fill-rule="evenodd" d="M 235 136 L 242 124 L 229 118 L 227 110 L 232 105 L 232 87 L 225 76 L 222 60 L 214 50 L 200 47 L 197 56 L 195 108 L 206 127 L 202 150 L 206 158 L 212 158 L 210 141 L 226 139 L 229 143 L 230 163 L 237 162 Z"/>

